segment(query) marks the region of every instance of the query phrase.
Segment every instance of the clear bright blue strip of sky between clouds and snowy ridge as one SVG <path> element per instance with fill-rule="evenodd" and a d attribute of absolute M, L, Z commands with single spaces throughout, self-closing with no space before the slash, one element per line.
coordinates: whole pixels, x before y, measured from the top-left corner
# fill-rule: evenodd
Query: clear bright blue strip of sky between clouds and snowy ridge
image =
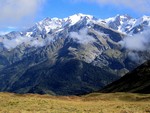
<path fill-rule="evenodd" d="M 126 6 L 85 1 L 71 2 L 71 0 L 49 0 L 42 12 L 41 19 L 44 17 L 64 18 L 76 13 L 90 14 L 97 18 L 108 18 L 117 14 L 129 14 L 135 18 L 144 15 L 144 12 L 136 12 Z M 145 14 L 148 15 L 148 13 Z"/>

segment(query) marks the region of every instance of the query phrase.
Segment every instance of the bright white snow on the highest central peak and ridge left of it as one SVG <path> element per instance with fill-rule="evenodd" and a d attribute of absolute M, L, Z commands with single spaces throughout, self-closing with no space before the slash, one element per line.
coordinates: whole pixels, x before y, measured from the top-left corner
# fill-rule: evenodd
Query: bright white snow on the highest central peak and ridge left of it
<path fill-rule="evenodd" d="M 35 26 L 32 27 L 32 31 L 40 31 L 40 32 L 45 32 L 48 33 L 51 30 L 57 30 L 57 29 L 62 29 L 66 25 L 72 26 L 76 24 L 79 21 L 82 21 L 83 19 L 86 19 L 88 21 L 92 21 L 95 18 L 91 15 L 85 15 L 85 14 L 75 14 L 72 16 L 69 16 L 67 18 L 59 19 L 59 18 L 45 18 L 42 21 L 36 23 Z M 31 29 L 29 29 L 31 31 Z"/>

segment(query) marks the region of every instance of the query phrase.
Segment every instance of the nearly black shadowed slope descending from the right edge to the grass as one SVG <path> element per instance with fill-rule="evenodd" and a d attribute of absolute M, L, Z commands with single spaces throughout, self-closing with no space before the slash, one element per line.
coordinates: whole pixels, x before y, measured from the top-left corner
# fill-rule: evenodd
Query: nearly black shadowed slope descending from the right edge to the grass
<path fill-rule="evenodd" d="M 101 92 L 150 93 L 150 61 L 106 86 Z"/>

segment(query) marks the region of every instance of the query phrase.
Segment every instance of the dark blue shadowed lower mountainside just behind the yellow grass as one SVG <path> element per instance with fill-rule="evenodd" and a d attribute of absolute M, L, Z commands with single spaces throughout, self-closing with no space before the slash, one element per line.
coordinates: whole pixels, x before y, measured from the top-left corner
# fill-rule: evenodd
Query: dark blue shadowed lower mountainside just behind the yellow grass
<path fill-rule="evenodd" d="M 0 80 L 7 79 L 7 83 L 3 81 L 3 84 L 9 87 L 3 87 L 2 91 L 81 95 L 98 91 L 106 84 L 118 79 L 116 75 L 79 60 L 58 61 L 54 66 L 50 65 L 50 62 L 45 61 L 31 68 L 20 70 L 24 73 L 20 72 L 14 77 L 9 73 L 10 71 L 12 74 L 16 73 L 14 71 L 18 72 L 18 70 L 12 70 L 15 66 L 3 70 L 5 78 L 2 77 Z"/>

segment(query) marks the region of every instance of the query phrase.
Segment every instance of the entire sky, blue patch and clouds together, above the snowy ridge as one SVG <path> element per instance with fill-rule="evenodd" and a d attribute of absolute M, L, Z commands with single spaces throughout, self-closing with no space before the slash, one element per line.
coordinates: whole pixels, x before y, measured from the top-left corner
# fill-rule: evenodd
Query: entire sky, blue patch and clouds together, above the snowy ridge
<path fill-rule="evenodd" d="M 0 33 L 32 26 L 46 17 L 76 13 L 102 19 L 117 14 L 150 15 L 150 0 L 0 0 L 0 7 Z"/>

